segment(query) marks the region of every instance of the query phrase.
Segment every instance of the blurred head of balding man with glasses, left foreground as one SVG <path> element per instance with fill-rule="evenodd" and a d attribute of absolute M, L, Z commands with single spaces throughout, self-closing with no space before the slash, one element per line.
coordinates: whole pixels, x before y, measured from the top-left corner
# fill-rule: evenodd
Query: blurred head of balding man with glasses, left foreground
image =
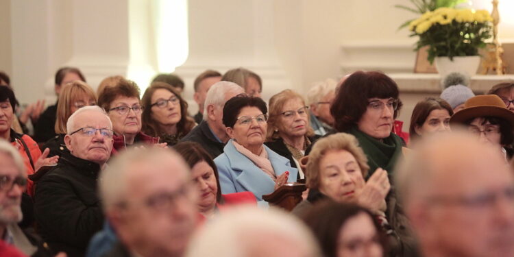
<path fill-rule="evenodd" d="M 197 191 L 170 149 L 127 149 L 100 178 L 108 221 L 119 243 L 104 256 L 182 256 L 195 229 Z"/>

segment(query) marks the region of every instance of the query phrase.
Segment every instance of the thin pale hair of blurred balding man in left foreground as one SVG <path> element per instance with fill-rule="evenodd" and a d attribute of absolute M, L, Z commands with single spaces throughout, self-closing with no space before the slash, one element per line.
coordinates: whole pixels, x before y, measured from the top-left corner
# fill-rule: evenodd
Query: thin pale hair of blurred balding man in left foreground
<path fill-rule="evenodd" d="M 102 199 L 104 210 L 108 211 L 127 197 L 130 188 L 127 188 L 128 171 L 130 167 L 136 163 L 145 163 L 148 165 L 160 165 L 164 158 L 172 156 L 176 158 L 178 163 L 175 167 L 186 167 L 182 156 L 177 154 L 173 149 L 162 147 L 131 147 L 115 156 L 109 163 L 109 166 L 100 173 L 99 192 Z M 182 162 L 182 163 L 179 163 Z M 144 172 L 144 171 L 135 171 Z"/>

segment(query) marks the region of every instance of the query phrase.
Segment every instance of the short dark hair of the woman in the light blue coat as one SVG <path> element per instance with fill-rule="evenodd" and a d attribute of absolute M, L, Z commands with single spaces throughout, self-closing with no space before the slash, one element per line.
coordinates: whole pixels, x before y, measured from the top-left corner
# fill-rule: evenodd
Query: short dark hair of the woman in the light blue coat
<path fill-rule="evenodd" d="M 265 101 L 260 99 L 260 97 L 238 95 L 232 97 L 225 103 L 225 106 L 223 106 L 223 125 L 225 125 L 225 127 L 234 127 L 241 109 L 245 107 L 256 107 L 262 114 L 267 114 L 268 112 Z"/>

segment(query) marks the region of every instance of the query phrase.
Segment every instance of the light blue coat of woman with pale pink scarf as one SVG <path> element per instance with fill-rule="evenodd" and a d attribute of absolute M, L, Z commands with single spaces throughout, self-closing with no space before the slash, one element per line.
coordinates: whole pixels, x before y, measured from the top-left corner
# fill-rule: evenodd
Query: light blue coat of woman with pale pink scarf
<path fill-rule="evenodd" d="M 291 167 L 289 159 L 271 151 L 266 145 L 264 145 L 264 149 L 267 151 L 268 159 L 275 170 L 275 174 L 279 176 L 289 171 L 287 181 L 295 182 L 298 170 Z M 232 140 L 228 141 L 223 151 L 223 154 L 215 158 L 221 193 L 229 194 L 250 191 L 254 193 L 259 206 L 266 206 L 267 202 L 262 200 L 262 195 L 273 193 L 275 182 L 267 173 L 259 169 L 252 160 L 237 151 Z"/>

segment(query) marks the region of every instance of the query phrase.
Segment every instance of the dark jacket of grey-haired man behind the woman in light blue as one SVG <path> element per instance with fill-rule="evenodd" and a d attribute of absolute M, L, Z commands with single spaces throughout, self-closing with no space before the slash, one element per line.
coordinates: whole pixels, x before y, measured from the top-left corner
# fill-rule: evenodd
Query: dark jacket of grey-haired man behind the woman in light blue
<path fill-rule="evenodd" d="M 225 147 L 225 144 L 219 142 L 215 135 L 212 134 L 206 121 L 201 121 L 199 125 L 180 140 L 180 142 L 188 141 L 199 143 L 212 156 L 212 159 L 223 154 L 223 147 Z"/>

